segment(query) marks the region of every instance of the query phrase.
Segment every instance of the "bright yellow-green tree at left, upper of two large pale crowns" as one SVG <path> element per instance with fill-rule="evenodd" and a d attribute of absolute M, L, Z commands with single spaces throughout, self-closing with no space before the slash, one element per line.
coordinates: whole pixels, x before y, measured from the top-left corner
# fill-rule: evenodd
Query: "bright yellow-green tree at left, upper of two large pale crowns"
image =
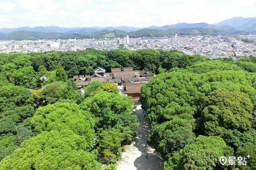
<path fill-rule="evenodd" d="M 51 130 L 72 130 L 74 134 L 84 137 L 84 146 L 91 150 L 94 141 L 94 122 L 87 111 L 80 110 L 77 104 L 55 103 L 40 107 L 31 119 L 36 133 Z"/>

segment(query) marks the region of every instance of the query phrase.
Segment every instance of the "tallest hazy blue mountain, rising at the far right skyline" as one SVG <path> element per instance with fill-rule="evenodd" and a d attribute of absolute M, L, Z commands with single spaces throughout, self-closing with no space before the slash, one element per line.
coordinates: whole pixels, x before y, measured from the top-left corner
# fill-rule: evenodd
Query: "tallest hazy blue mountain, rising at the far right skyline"
<path fill-rule="evenodd" d="M 239 30 L 256 31 L 256 17 L 254 18 L 234 17 L 213 25 L 214 26 L 228 25 L 228 26 L 235 27 Z"/>

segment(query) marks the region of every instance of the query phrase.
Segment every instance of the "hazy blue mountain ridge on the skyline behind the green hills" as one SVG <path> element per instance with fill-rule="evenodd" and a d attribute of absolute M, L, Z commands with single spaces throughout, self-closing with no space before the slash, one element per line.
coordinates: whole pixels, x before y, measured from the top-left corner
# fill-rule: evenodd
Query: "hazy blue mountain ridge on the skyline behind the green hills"
<path fill-rule="evenodd" d="M 16 31 L 34 31 L 34 32 L 44 32 L 44 33 L 83 33 L 83 34 L 92 34 L 98 31 L 102 30 L 122 30 L 126 32 L 131 31 L 138 31 L 141 29 L 158 29 L 158 30 L 168 30 L 170 28 L 195 28 L 195 27 L 201 27 L 201 28 L 214 28 L 217 31 L 227 31 L 227 32 L 236 32 L 239 30 L 244 31 L 256 31 L 256 17 L 255 18 L 243 18 L 243 17 L 234 17 L 231 19 L 227 19 L 225 21 L 221 21 L 217 24 L 207 24 L 205 22 L 200 23 L 178 23 L 175 25 L 165 25 L 165 26 L 148 26 L 148 27 L 141 27 L 136 28 L 133 26 L 108 26 L 108 27 L 100 27 L 100 26 L 94 26 L 94 27 L 58 27 L 58 26 L 38 26 L 38 27 L 19 27 L 19 28 L 0 28 L 1 33 L 12 33 Z"/>

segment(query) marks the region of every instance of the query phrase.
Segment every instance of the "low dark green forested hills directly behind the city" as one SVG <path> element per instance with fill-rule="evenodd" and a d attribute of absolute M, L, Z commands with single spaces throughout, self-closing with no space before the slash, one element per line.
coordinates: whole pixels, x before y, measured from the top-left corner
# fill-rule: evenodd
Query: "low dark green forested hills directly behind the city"
<path fill-rule="evenodd" d="M 113 37 L 109 37 L 108 33 L 115 33 Z M 92 34 L 84 34 L 84 33 L 44 33 L 44 32 L 33 32 L 33 31 L 16 31 L 12 33 L 8 33 L 3 35 L 0 34 L 0 40 L 38 40 L 38 39 L 87 39 L 87 38 L 95 38 L 95 39 L 100 39 L 100 38 L 122 38 L 125 37 L 126 35 L 129 35 L 131 38 L 136 38 L 136 37 L 164 37 L 164 36 L 174 36 L 175 34 L 182 36 L 182 35 L 226 35 L 226 34 L 255 34 L 255 32 L 252 31 L 217 31 L 213 28 L 201 28 L 201 27 L 196 27 L 196 28 L 180 28 L 180 29 L 175 29 L 171 28 L 168 30 L 158 30 L 158 29 L 141 29 L 138 31 L 132 31 L 132 32 L 125 32 L 122 30 L 114 30 L 114 31 L 109 31 L 109 30 L 102 30 L 100 32 L 95 32 Z"/>

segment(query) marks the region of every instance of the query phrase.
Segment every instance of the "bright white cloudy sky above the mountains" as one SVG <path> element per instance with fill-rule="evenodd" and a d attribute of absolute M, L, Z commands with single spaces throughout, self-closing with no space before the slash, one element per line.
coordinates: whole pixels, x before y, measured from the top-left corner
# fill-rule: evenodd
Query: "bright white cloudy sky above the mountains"
<path fill-rule="evenodd" d="M 0 28 L 216 24 L 255 9 L 253 0 L 0 0 Z"/>

